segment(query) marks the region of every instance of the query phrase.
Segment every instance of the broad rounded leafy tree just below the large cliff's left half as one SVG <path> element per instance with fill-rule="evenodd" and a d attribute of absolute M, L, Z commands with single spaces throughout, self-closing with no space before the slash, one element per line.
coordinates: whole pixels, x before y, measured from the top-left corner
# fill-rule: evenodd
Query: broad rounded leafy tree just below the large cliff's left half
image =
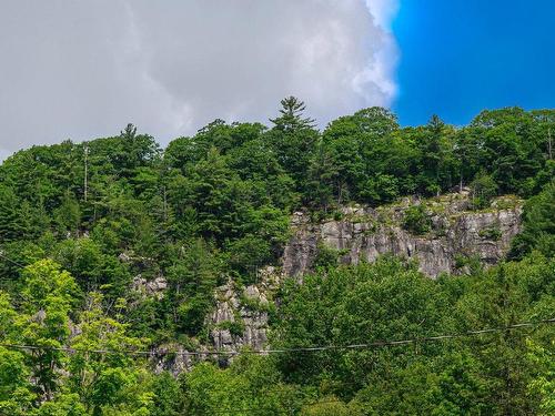
<path fill-rule="evenodd" d="M 282 294 L 276 346 L 361 344 L 443 329 L 443 294 L 427 277 L 396 260 L 321 271 L 303 280 L 302 285 L 291 283 Z M 428 347 L 432 352 L 432 346 L 422 346 L 420 353 Z M 334 351 L 294 353 L 280 356 L 280 368 L 291 382 L 325 381 L 331 386 L 327 393 L 337 389 L 347 395 L 373 383 L 372 377 L 387 366 L 402 366 L 408 356 L 389 349 L 347 351 L 341 359 Z"/>

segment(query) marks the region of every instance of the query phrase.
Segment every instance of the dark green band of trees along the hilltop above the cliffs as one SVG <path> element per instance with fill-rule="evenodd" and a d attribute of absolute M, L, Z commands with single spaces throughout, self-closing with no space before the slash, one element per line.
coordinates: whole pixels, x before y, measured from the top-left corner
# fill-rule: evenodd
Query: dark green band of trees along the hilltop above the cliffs
<path fill-rule="evenodd" d="M 279 255 L 295 209 L 325 215 L 349 202 L 379 205 L 461 186 L 472 186 L 484 207 L 497 194 L 535 195 L 553 177 L 553 110 L 484 111 L 464 128 L 437 116 L 400 128 L 389 110 L 371 108 L 319 132 L 302 102 L 282 106 L 271 128 L 216 120 L 164 151 L 131 124 L 114 138 L 20 151 L 0 166 L 0 237 L 87 232 L 111 253 L 157 260 L 167 244 L 201 239 L 245 277 Z"/>

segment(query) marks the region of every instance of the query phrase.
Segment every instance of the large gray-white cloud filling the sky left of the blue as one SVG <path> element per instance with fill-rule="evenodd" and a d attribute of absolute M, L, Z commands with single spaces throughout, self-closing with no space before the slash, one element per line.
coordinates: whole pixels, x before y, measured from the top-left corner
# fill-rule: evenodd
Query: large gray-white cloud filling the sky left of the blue
<path fill-rule="evenodd" d="M 331 119 L 395 95 L 396 0 L 13 0 L 0 14 L 0 160 L 118 133 L 162 144 L 285 95 Z"/>

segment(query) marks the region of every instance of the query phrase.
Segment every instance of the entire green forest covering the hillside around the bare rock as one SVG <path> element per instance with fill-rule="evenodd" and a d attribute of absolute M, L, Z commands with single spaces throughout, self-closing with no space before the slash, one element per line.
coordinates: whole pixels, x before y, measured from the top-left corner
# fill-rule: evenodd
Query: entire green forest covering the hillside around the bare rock
<path fill-rule="evenodd" d="M 554 415 L 555 110 L 401 126 L 369 108 L 319 130 L 291 97 L 268 124 L 218 119 L 165 149 L 128 124 L 3 161 L 0 414 Z M 433 280 L 391 255 L 331 255 L 281 285 L 274 353 L 211 351 L 179 375 L 142 354 L 210 346 L 214 291 L 280 267 L 292 213 L 319 222 L 463 187 L 476 212 L 525 201 L 497 265 Z M 411 210 L 406 229 L 426 215 Z M 138 275 L 164 276 L 163 296 L 138 296 Z"/>

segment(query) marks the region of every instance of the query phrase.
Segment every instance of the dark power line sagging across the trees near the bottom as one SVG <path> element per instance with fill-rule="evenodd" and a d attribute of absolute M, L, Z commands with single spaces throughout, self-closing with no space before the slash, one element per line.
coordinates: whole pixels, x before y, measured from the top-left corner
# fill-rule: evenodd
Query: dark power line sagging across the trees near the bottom
<path fill-rule="evenodd" d="M 444 339 L 454 339 L 468 336 L 477 336 L 483 334 L 500 333 L 512 329 L 522 329 L 526 327 L 534 327 L 538 325 L 548 325 L 555 323 L 555 317 L 549 319 L 542 319 L 535 322 L 524 322 L 518 324 L 513 324 L 503 327 L 484 328 L 484 329 L 473 329 L 466 331 L 458 334 L 446 334 L 446 335 L 433 335 L 418 338 L 406 338 L 406 339 L 395 339 L 395 341 L 376 341 L 365 344 L 350 344 L 350 345 L 322 345 L 322 346 L 311 346 L 311 347 L 293 347 L 293 348 L 275 348 L 275 349 L 244 349 L 242 352 L 234 351 L 134 351 L 134 349 L 89 349 L 89 348 L 73 348 L 73 347 L 53 347 L 53 346 L 42 346 L 42 345 L 24 345 L 24 344 L 9 344 L 0 343 L 0 346 L 11 349 L 21 351 L 58 351 L 64 353 L 89 353 L 89 354 L 124 354 L 133 356 L 144 356 L 144 357 L 159 357 L 167 355 L 181 355 L 181 356 L 235 356 L 240 354 L 251 354 L 251 355 L 269 355 L 269 354 L 285 354 L 285 353 L 315 353 L 322 351 L 342 351 L 342 349 L 369 349 L 369 348 L 380 348 L 386 346 L 403 346 L 411 344 L 421 344 Z"/>

